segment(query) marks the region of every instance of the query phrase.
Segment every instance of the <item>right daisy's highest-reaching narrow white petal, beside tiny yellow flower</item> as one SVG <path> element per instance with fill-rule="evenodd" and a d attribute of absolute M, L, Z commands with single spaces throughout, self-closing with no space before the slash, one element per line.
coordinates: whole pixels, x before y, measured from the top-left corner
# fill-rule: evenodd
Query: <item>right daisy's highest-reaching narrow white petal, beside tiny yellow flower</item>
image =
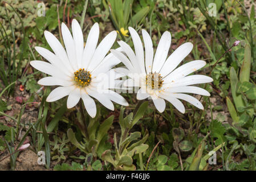
<path fill-rule="evenodd" d="M 144 63 L 144 49 L 143 49 L 143 45 L 142 45 L 140 36 L 137 34 L 137 32 L 132 27 L 128 27 L 128 29 L 132 36 L 132 41 L 133 41 L 133 45 L 135 48 L 137 61 L 140 65 L 140 71 L 141 71 L 141 73 L 145 73 L 146 71 L 145 71 L 145 63 Z"/>

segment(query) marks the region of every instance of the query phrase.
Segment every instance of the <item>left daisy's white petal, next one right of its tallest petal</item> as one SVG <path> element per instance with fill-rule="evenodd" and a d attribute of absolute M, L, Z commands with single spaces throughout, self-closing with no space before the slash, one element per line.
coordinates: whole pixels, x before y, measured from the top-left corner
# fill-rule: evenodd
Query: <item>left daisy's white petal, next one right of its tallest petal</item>
<path fill-rule="evenodd" d="M 82 57 L 82 68 L 86 69 L 91 62 L 92 56 L 94 55 L 97 42 L 99 40 L 100 28 L 98 23 L 94 23 L 92 26 L 88 38 L 86 40 L 86 47 L 84 47 Z"/>

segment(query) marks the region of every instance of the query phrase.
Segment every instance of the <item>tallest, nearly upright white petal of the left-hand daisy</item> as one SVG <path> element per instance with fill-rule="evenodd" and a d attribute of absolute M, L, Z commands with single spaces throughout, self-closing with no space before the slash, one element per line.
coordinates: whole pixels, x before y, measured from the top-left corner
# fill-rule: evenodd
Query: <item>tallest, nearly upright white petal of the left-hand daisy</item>
<path fill-rule="evenodd" d="M 72 34 L 75 43 L 76 62 L 78 68 L 82 68 L 82 57 L 84 51 L 84 38 L 82 29 L 76 19 L 72 20 Z"/>

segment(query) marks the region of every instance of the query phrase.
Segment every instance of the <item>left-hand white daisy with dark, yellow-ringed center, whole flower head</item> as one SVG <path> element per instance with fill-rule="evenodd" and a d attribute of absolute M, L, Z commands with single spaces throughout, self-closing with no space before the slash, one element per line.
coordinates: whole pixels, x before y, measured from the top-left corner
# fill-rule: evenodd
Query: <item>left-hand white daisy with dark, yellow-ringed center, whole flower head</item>
<path fill-rule="evenodd" d="M 52 90 L 47 97 L 47 102 L 54 102 L 68 96 L 67 107 L 71 108 L 78 104 L 80 98 L 84 102 L 87 113 L 94 118 L 96 104 L 91 98 L 94 97 L 102 105 L 114 110 L 112 101 L 127 106 L 125 99 L 109 90 L 115 86 L 115 78 L 111 80 L 109 73 L 111 68 L 120 63 L 112 53 L 107 55 L 109 49 L 116 40 L 116 31 L 110 32 L 97 46 L 99 39 L 99 24 L 95 23 L 88 34 L 86 46 L 79 23 L 72 20 L 72 35 L 68 27 L 62 23 L 62 36 L 66 50 L 48 31 L 44 36 L 52 51 L 43 47 L 35 47 L 36 51 L 49 61 L 30 61 L 35 69 L 50 75 L 38 81 L 40 85 L 59 85 Z M 106 56 L 107 55 L 107 56 Z M 104 75 L 104 79 L 101 79 Z M 104 85 L 104 86 L 102 86 Z M 115 84 L 114 84 L 115 85 Z"/>

